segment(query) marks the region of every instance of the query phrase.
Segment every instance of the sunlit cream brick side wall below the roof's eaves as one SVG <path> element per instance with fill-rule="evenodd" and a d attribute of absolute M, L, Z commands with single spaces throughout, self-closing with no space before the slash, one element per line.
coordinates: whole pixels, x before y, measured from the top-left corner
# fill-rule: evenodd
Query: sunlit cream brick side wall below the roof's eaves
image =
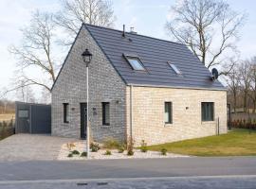
<path fill-rule="evenodd" d="M 220 133 L 227 132 L 227 92 L 191 89 L 133 87 L 133 139 L 136 145 L 174 142 L 216 134 L 216 121 L 201 121 L 201 102 L 214 102 L 214 118 L 219 117 Z M 130 87 L 126 90 L 130 110 Z M 173 102 L 173 124 L 164 123 L 164 102 Z M 188 110 L 186 110 L 188 107 Z M 130 114 L 127 113 L 127 134 Z"/>

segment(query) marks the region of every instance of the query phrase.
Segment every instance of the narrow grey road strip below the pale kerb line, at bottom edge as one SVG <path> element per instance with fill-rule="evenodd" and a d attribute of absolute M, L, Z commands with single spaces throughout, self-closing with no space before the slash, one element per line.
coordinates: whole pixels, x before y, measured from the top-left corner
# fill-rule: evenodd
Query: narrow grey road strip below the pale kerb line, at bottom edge
<path fill-rule="evenodd" d="M 255 186 L 255 176 L 119 180 L 37 180 L 0 183 L 1 189 L 255 189 Z"/>

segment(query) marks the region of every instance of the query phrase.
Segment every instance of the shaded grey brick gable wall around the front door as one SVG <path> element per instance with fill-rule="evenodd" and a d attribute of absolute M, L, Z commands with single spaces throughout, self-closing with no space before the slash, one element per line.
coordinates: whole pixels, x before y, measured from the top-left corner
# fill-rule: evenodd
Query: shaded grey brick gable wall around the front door
<path fill-rule="evenodd" d="M 81 136 L 80 103 L 86 102 L 85 65 L 81 55 L 85 48 L 93 54 L 89 65 L 89 110 L 93 138 L 101 141 L 112 136 L 123 140 L 126 86 L 85 28 L 82 28 L 74 43 L 52 90 L 52 134 L 75 138 Z M 101 102 L 110 102 L 110 126 L 102 126 Z M 69 123 L 64 123 L 63 103 L 70 105 Z M 96 114 L 92 114 L 93 108 L 96 108 Z"/>

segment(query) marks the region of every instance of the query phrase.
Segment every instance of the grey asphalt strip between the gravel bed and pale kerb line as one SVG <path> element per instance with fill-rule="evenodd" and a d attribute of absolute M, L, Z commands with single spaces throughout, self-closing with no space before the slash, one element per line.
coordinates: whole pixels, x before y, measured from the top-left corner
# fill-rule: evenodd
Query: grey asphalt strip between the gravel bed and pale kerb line
<path fill-rule="evenodd" d="M 0 180 L 256 175 L 255 157 L 0 163 Z"/>

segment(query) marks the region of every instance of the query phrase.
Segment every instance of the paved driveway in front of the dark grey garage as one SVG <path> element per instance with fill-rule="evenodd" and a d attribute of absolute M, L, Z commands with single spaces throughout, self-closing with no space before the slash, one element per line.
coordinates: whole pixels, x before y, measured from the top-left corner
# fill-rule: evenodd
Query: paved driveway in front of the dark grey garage
<path fill-rule="evenodd" d="M 14 134 L 0 141 L 0 162 L 56 160 L 65 143 L 78 139 L 41 134 Z"/>

